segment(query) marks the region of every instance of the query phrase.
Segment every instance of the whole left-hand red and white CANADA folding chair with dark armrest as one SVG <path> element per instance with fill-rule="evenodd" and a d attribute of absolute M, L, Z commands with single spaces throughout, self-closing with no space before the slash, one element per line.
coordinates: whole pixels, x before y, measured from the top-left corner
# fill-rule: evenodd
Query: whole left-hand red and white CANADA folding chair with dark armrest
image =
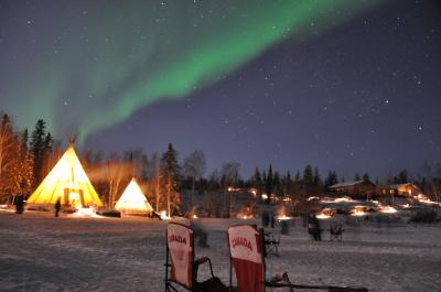
<path fill-rule="evenodd" d="M 165 237 L 165 292 L 178 291 L 173 283 L 192 292 L 228 291 L 220 280 L 214 277 L 209 258 L 194 259 L 194 231 L 192 228 L 179 223 L 170 223 Z M 209 264 L 212 278 L 204 282 L 197 282 L 198 267 L 205 262 Z"/>

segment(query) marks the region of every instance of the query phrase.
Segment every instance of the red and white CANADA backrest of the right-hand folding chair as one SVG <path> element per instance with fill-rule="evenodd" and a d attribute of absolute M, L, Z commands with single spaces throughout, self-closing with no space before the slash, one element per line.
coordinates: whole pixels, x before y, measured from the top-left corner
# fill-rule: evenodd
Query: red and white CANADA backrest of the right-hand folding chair
<path fill-rule="evenodd" d="M 236 225 L 228 228 L 230 261 L 237 280 L 237 292 L 265 291 L 262 234 L 255 226 Z"/>

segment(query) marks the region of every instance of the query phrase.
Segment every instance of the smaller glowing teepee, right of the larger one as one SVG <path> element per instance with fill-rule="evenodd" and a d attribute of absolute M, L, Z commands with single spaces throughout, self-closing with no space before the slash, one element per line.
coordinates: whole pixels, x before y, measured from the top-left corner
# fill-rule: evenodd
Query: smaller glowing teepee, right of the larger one
<path fill-rule="evenodd" d="M 123 213 L 151 213 L 153 210 L 135 179 L 131 179 L 115 208 Z"/>

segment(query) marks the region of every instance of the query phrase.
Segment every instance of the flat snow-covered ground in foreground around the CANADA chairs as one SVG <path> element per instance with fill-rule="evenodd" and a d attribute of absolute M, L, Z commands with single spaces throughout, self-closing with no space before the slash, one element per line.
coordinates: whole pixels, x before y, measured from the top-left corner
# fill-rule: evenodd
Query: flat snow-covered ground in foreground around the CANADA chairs
<path fill-rule="evenodd" d="M 208 230 L 211 246 L 196 248 L 196 257 L 211 257 L 227 283 L 225 230 L 238 220 L 196 221 Z M 0 291 L 164 291 L 165 227 L 140 217 L 0 212 Z M 267 258 L 267 275 L 288 271 L 302 284 L 441 291 L 440 224 L 352 224 L 343 242 L 323 237 L 311 241 L 300 221 L 291 225 L 290 235 L 281 236 L 281 257 Z"/>

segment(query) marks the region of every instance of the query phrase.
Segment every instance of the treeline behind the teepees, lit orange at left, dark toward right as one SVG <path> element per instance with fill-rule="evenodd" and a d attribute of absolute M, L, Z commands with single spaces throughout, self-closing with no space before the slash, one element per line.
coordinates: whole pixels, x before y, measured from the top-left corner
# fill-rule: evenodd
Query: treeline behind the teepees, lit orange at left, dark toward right
<path fill-rule="evenodd" d="M 54 141 L 44 120 L 36 121 L 29 137 L 28 130 L 14 130 L 10 116 L 1 115 L 0 201 L 13 201 L 17 195 L 29 196 L 63 154 L 61 144 Z M 206 208 L 211 210 L 214 205 L 220 205 L 223 209 L 216 212 L 229 217 L 234 204 L 229 188 L 254 188 L 258 197 L 267 198 L 267 203 L 270 195 L 304 202 L 311 195 L 326 193 L 333 184 L 370 180 L 367 173 L 355 173 L 345 180 L 338 177 L 334 170 L 323 175 L 312 165 L 294 173 L 281 173 L 271 164 L 265 170 L 257 167 L 250 177 L 244 179 L 239 175 L 240 164 L 237 162 L 225 162 L 207 174 L 202 150 L 195 150 L 180 160 L 172 144 L 162 153 L 146 153 L 142 149 L 123 153 L 88 150 L 79 158 L 107 206 L 114 206 L 129 181 L 136 177 L 153 208 L 168 210 L 169 214 L 182 210 L 183 205 L 185 212 L 193 212 L 202 204 L 195 201 L 196 195 L 207 193 L 204 199 Z M 259 164 L 259 161 L 256 163 Z M 373 182 L 378 184 L 378 179 Z M 410 177 L 407 170 L 402 170 L 386 180 L 387 184 L 407 182 L 413 182 L 429 197 L 437 198 L 441 188 L 441 164 L 424 162 L 416 177 Z M 217 195 L 209 195 L 213 193 Z"/>

